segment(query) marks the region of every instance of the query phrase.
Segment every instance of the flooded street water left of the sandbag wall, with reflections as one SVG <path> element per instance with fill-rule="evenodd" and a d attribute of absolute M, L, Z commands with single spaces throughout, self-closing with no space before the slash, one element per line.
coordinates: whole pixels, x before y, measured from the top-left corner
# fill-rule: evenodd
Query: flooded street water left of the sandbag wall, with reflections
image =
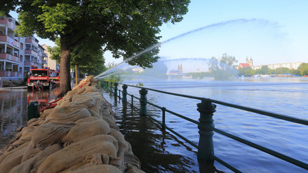
<path fill-rule="evenodd" d="M 27 105 L 38 101 L 40 108 L 55 101 L 59 88 L 43 91 L 0 90 L 0 148 L 16 135 L 18 127 L 27 126 Z"/>

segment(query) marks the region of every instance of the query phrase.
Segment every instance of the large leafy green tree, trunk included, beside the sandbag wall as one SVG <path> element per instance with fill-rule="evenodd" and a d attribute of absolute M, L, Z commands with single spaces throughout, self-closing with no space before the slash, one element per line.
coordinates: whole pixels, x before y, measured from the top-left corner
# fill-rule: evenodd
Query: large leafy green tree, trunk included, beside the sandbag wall
<path fill-rule="evenodd" d="M 18 34 L 55 40 L 60 36 L 60 95 L 70 88 L 70 53 L 82 42 L 103 46 L 113 56 L 128 59 L 157 44 L 159 26 L 176 23 L 188 12 L 190 0 L 28 0 L 18 8 Z M 151 67 L 158 49 L 131 59 L 129 64 Z"/>

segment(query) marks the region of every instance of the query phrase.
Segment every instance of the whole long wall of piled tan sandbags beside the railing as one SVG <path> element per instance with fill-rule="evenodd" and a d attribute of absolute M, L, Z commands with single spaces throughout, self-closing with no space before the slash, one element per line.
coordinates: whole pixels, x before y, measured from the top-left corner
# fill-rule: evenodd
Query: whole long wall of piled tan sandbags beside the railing
<path fill-rule="evenodd" d="M 81 85 L 17 129 L 0 172 L 143 172 L 93 77 Z"/>

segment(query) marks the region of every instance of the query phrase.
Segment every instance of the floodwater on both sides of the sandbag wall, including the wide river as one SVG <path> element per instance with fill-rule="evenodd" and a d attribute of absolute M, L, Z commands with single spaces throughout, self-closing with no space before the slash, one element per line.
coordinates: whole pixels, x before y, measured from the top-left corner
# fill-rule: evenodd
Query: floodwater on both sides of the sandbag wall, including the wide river
<path fill-rule="evenodd" d="M 287 116 L 308 119 L 308 78 L 244 78 L 236 81 L 214 81 L 212 79 L 168 79 L 146 80 L 134 78 L 123 83 L 212 98 L 218 101 L 264 109 Z M 122 88 L 119 89 L 122 90 Z M 139 97 L 138 89 L 128 88 L 129 94 Z M 8 90 L 0 93 L 0 146 L 3 148 L 14 135 L 16 128 L 27 123 L 27 104 L 39 100 L 42 104 L 55 100 L 57 90 L 49 92 L 27 92 Z M 131 143 L 133 153 L 140 159 L 145 172 L 199 172 L 196 149 L 179 137 L 165 131 L 159 124 L 138 115 L 136 109 L 123 104 L 109 92 L 103 96 L 112 103 L 116 121 L 125 139 Z M 130 102 L 131 98 L 128 97 Z M 183 116 L 198 120 L 196 101 L 190 98 L 170 96 L 149 91 L 147 99 Z M 138 101 L 134 99 L 134 105 Z M 148 114 L 162 120 L 162 112 L 148 105 Z M 308 127 L 284 120 L 277 120 L 247 111 L 217 105 L 214 113 L 217 129 L 227 131 L 283 155 L 308 163 Z M 190 141 L 198 144 L 196 124 L 166 114 L 166 125 Z M 224 137 L 214 136 L 215 155 L 242 172 L 307 172 L 291 163 L 277 159 L 264 152 Z M 215 167 L 215 168 L 214 168 Z M 217 161 L 207 172 L 231 172 Z"/>

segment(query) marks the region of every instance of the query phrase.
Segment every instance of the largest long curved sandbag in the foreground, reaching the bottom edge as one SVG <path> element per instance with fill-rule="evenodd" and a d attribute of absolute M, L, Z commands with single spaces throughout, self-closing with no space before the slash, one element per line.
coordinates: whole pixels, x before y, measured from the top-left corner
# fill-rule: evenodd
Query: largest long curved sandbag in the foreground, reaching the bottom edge
<path fill-rule="evenodd" d="M 105 153 L 116 157 L 118 143 L 111 135 L 96 135 L 75 142 L 50 155 L 38 168 L 41 172 L 60 172 L 78 164 L 94 153 Z"/>

